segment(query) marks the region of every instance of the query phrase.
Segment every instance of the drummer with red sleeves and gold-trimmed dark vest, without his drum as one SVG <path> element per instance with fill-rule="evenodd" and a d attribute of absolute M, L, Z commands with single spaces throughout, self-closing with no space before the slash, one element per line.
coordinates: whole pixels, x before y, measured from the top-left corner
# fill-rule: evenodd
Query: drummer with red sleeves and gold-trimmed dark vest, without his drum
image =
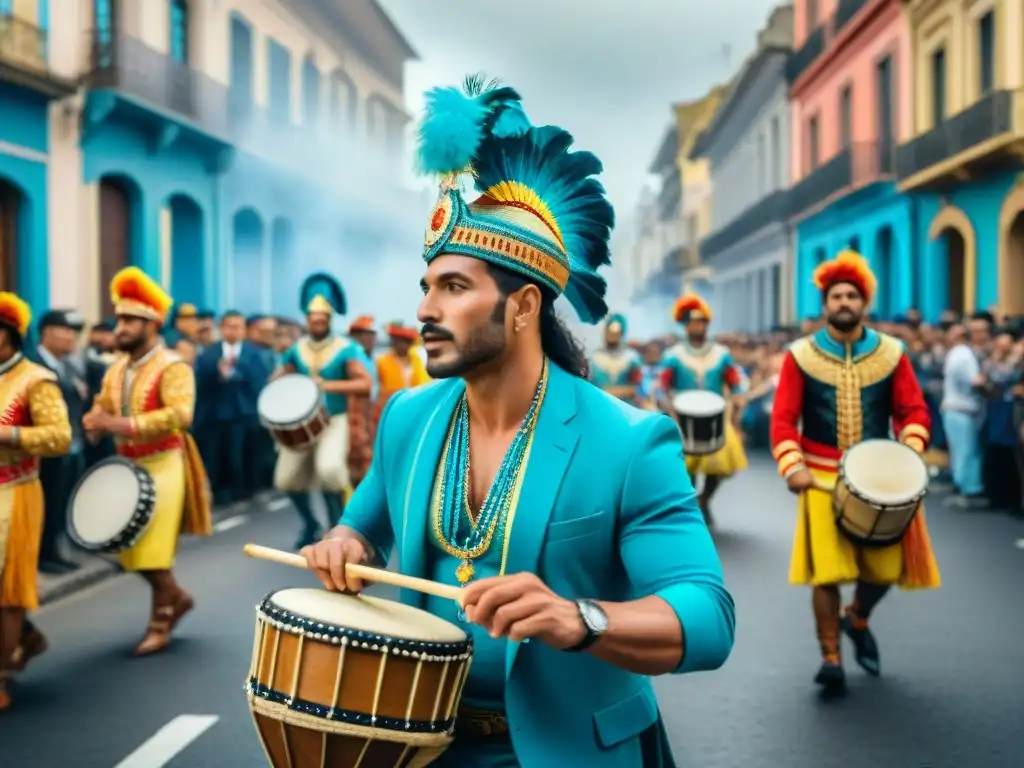
<path fill-rule="evenodd" d="M 790 582 L 813 588 L 821 647 L 815 682 L 826 692 L 845 687 L 840 631 L 854 644 L 865 672 L 881 672 L 878 643 L 867 627 L 890 587 L 939 586 L 924 512 L 902 542 L 861 548 L 840 531 L 831 495 L 843 453 L 861 440 L 897 438 L 924 453 L 930 438 L 928 407 L 903 345 L 864 328 L 877 283 L 859 254 L 844 251 L 814 272 L 827 324 L 799 339 L 782 362 L 771 418 L 772 456 L 790 489 L 799 494 Z M 803 424 L 801 428 L 800 425 Z M 840 585 L 855 583 L 853 602 L 840 612 Z"/>

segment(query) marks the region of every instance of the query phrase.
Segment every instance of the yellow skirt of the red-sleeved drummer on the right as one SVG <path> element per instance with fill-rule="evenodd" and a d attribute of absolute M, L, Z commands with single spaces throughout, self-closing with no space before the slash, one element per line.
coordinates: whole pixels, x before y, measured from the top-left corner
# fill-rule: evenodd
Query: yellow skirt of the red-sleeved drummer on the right
<path fill-rule="evenodd" d="M 836 482 L 834 472 L 811 473 L 826 487 Z M 801 494 L 790 583 L 817 587 L 857 581 L 895 584 L 906 590 L 936 589 L 941 585 L 924 507 L 914 515 L 902 542 L 868 549 L 856 546 L 840 532 L 831 494 L 818 488 Z"/>

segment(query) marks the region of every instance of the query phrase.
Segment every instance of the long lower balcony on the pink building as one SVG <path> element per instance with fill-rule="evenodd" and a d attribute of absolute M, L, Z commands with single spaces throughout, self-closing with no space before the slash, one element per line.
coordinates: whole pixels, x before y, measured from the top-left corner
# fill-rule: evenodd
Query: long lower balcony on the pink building
<path fill-rule="evenodd" d="M 790 189 L 790 217 L 802 219 L 836 199 L 895 179 L 889 141 L 859 141 L 818 166 Z"/>

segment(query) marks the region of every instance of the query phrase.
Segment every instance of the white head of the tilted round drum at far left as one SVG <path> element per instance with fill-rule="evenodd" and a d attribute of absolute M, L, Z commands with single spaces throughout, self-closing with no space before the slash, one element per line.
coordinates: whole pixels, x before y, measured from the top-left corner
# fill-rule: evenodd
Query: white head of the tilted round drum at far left
<path fill-rule="evenodd" d="M 85 544 L 104 544 L 124 530 L 138 507 L 138 477 L 124 464 L 104 464 L 82 478 L 71 524 Z"/>

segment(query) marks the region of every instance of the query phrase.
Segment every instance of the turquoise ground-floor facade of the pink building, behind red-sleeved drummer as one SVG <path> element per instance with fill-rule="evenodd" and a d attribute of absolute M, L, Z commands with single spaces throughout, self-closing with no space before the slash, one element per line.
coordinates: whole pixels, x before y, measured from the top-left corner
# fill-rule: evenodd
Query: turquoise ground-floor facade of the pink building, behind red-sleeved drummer
<path fill-rule="evenodd" d="M 814 269 L 844 248 L 861 253 L 878 276 L 879 292 L 870 311 L 879 318 L 891 318 L 920 306 L 928 295 L 916 268 L 923 200 L 927 199 L 901 195 L 891 182 L 879 182 L 797 223 L 796 306 L 800 319 L 821 314 L 821 294 L 811 282 Z"/>

